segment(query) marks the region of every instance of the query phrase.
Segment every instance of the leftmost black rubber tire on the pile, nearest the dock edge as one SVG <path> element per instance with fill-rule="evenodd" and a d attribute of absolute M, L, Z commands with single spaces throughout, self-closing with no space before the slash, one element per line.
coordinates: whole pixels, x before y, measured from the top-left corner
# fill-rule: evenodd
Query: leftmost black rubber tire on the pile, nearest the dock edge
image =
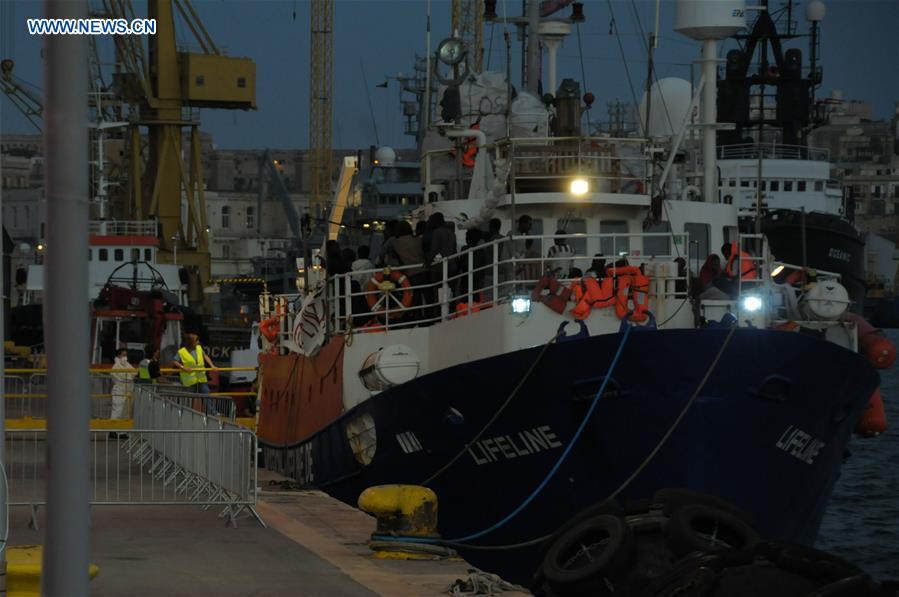
<path fill-rule="evenodd" d="M 598 557 L 573 570 L 565 567 L 583 544 L 598 536 L 608 538 Z M 546 552 L 541 569 L 550 586 L 562 594 L 587 594 L 588 591 L 595 594 L 604 586 L 606 576 L 630 563 L 633 553 L 634 537 L 624 519 L 600 514 L 583 520 L 556 539 Z"/>

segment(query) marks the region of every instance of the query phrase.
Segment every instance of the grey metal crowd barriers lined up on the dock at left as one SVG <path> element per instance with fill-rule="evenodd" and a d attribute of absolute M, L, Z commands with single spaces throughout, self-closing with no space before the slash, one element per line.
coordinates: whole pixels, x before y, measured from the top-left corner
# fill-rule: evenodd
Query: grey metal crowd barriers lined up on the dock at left
<path fill-rule="evenodd" d="M 32 525 L 46 503 L 45 430 L 7 430 L 9 504 L 30 506 Z M 255 434 L 136 386 L 134 429 L 90 431 L 92 505 L 222 507 L 236 526 L 255 511 Z"/>

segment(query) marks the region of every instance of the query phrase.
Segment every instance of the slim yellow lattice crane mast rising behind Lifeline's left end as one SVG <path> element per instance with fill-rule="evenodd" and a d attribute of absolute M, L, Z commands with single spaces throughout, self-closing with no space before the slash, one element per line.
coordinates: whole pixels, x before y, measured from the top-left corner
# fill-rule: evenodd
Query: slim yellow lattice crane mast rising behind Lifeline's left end
<path fill-rule="evenodd" d="M 312 194 L 310 212 L 324 215 L 331 199 L 331 94 L 334 48 L 334 0 L 312 0 L 309 6 L 309 152 Z"/>

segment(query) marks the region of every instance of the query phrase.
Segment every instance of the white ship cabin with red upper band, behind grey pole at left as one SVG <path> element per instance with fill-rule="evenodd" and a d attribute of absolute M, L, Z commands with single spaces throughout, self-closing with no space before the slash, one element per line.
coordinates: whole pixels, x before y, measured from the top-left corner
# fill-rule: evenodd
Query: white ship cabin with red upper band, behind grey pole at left
<path fill-rule="evenodd" d="M 135 286 L 137 290 L 164 286 L 179 304 L 185 304 L 187 286 L 181 281 L 178 266 L 156 262 L 159 238 L 155 221 L 92 221 L 89 233 L 89 300 L 95 300 L 112 277 L 113 283 Z M 29 302 L 40 303 L 43 265 L 28 267 L 26 288 Z"/>

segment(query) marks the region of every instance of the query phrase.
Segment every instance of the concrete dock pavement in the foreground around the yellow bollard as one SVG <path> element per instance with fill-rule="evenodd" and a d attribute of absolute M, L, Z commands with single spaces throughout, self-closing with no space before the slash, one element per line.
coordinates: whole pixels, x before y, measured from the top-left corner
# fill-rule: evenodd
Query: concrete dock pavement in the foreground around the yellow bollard
<path fill-rule="evenodd" d="M 92 594 L 425 596 L 468 576 L 460 559 L 374 557 L 374 519 L 317 491 L 263 492 L 257 510 L 268 528 L 250 517 L 229 528 L 197 506 L 95 506 Z M 45 514 L 34 530 L 13 508 L 10 545 L 41 543 Z"/>

